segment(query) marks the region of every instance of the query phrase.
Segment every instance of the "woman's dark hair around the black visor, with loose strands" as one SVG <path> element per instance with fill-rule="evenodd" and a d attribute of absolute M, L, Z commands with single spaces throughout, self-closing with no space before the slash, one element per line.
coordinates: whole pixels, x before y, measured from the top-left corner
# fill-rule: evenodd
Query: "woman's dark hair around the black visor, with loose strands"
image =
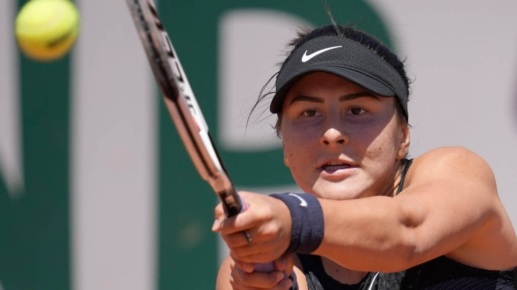
<path fill-rule="evenodd" d="M 285 65 L 285 63 L 290 59 L 291 55 L 298 47 L 300 47 L 301 45 L 303 45 L 304 43 L 306 43 L 309 40 L 312 40 L 312 39 L 315 39 L 318 37 L 323 37 L 323 36 L 339 36 L 342 38 L 346 38 L 346 39 L 355 41 L 355 42 L 363 45 L 364 47 L 367 47 L 373 53 L 375 53 L 377 56 L 381 57 L 384 61 L 386 61 L 389 65 L 391 65 L 393 67 L 393 69 L 395 69 L 402 76 L 402 79 L 405 81 L 406 88 L 409 91 L 410 80 L 406 75 L 403 61 L 401 61 L 397 57 L 396 54 L 392 53 L 391 50 L 388 47 L 386 47 L 380 40 L 369 35 L 368 33 L 361 31 L 361 30 L 357 30 L 357 29 L 353 28 L 352 26 L 341 26 L 341 25 L 338 25 L 335 23 L 332 25 L 327 25 L 324 27 L 316 28 L 314 30 L 310 30 L 308 28 L 302 28 L 298 32 L 298 37 L 293 39 L 292 41 L 290 41 L 287 44 L 287 46 L 290 47 L 291 50 L 288 53 L 288 56 L 286 57 L 284 62 L 282 63 L 280 70 Z M 251 109 L 250 115 L 248 116 L 248 121 L 250 119 L 251 113 L 257 107 L 258 103 L 260 103 L 260 101 L 262 101 L 266 96 L 275 93 L 272 90 L 268 91 L 267 93 L 264 93 L 264 91 L 266 90 L 266 87 L 268 86 L 269 82 L 277 75 L 278 75 L 278 72 L 267 81 L 267 83 L 264 85 L 264 87 L 262 87 L 260 95 L 258 96 L 258 99 L 257 99 L 255 105 L 253 106 L 253 108 Z M 282 113 L 280 112 L 277 115 L 278 115 L 278 120 L 275 125 L 275 129 L 277 131 L 278 137 L 281 137 L 281 134 L 280 134 L 281 125 L 280 124 L 282 121 Z M 408 121 L 406 120 L 406 117 L 404 114 L 404 109 L 401 104 L 399 104 L 397 106 L 397 118 L 401 124 L 409 126 Z"/>

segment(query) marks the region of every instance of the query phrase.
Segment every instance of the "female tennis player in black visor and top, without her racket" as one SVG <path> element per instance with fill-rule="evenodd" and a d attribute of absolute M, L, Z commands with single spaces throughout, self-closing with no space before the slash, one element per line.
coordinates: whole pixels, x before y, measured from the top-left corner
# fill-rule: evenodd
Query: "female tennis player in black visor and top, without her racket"
<path fill-rule="evenodd" d="M 212 230 L 230 248 L 217 289 L 517 289 L 517 238 L 490 166 L 460 147 L 407 158 L 399 58 L 338 25 L 291 45 L 270 111 L 305 193 L 241 192 L 249 209 L 228 219 L 216 208 Z M 276 271 L 253 270 L 268 261 Z"/>

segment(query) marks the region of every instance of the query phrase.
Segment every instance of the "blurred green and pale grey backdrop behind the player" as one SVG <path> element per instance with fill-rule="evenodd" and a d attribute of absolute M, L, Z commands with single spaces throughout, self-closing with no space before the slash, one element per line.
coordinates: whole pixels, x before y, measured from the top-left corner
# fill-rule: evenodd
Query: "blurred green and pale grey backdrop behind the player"
<path fill-rule="evenodd" d="M 210 231 L 217 200 L 178 140 L 125 2 L 74 1 L 78 42 L 48 63 L 16 46 L 25 2 L 0 1 L 0 290 L 214 288 L 224 258 Z M 336 22 L 406 59 L 410 155 L 477 152 L 515 227 L 517 2 L 328 4 Z M 267 104 L 245 123 L 284 44 L 299 27 L 330 23 L 322 3 L 158 8 L 238 189 L 296 191 Z"/>

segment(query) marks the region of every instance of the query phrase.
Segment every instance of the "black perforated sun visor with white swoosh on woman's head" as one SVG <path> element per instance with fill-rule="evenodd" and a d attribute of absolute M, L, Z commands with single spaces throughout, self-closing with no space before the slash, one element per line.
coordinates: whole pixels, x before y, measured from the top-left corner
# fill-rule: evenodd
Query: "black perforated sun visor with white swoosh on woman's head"
<path fill-rule="evenodd" d="M 288 89 L 312 72 L 340 76 L 381 96 L 397 96 L 407 116 L 408 91 L 397 70 L 362 44 L 337 36 L 312 39 L 293 52 L 277 76 L 271 113 L 280 112 Z"/>

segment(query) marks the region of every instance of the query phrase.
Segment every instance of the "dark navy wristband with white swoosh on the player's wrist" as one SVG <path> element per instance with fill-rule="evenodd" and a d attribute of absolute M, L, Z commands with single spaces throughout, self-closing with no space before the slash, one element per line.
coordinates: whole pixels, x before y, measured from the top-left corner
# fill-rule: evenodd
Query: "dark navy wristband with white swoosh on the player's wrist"
<path fill-rule="evenodd" d="M 286 253 L 309 254 L 323 240 L 323 210 L 318 199 L 308 193 L 271 194 L 282 200 L 291 212 L 291 242 Z"/>

